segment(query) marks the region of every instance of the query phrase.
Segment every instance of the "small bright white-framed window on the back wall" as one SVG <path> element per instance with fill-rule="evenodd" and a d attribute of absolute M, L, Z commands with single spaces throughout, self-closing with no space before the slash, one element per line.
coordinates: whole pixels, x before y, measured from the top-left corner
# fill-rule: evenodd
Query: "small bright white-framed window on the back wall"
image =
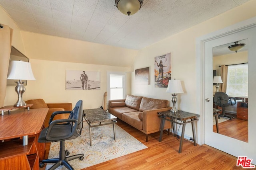
<path fill-rule="evenodd" d="M 108 100 L 124 99 L 126 95 L 125 84 L 125 72 L 108 72 Z"/>

